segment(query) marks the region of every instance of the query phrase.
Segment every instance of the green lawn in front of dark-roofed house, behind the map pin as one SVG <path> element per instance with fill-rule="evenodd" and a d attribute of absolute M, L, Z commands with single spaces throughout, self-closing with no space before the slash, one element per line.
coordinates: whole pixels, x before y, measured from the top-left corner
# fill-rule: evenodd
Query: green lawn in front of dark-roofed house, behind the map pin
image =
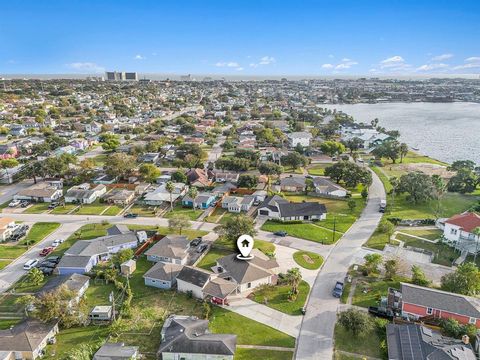
<path fill-rule="evenodd" d="M 317 226 L 315 223 L 289 224 L 269 220 L 262 225 L 262 230 L 270 232 L 286 231 L 288 235 L 322 244 L 333 244 L 342 236 L 339 232 L 334 234 L 333 231 Z"/>

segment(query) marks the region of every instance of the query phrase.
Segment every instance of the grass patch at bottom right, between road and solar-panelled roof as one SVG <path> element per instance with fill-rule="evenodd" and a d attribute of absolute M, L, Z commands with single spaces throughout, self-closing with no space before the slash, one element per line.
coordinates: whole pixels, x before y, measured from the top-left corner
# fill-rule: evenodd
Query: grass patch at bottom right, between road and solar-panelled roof
<path fill-rule="evenodd" d="M 383 358 L 380 348 L 381 339 L 378 336 L 377 329 L 353 336 L 352 332 L 345 329 L 340 324 L 335 325 L 335 349 L 349 353 L 361 354 L 375 358 Z M 361 358 L 361 357 L 359 357 Z M 348 357 L 340 357 L 337 359 L 349 359 Z"/>

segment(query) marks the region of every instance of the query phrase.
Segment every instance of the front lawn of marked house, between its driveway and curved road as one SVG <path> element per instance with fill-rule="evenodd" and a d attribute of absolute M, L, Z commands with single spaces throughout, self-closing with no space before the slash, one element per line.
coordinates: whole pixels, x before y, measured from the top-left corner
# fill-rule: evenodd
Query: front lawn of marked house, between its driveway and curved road
<path fill-rule="evenodd" d="M 306 281 L 300 283 L 295 301 L 288 300 L 291 289 L 290 285 L 261 286 L 253 292 L 252 300 L 288 315 L 301 315 L 310 292 L 310 285 Z"/>

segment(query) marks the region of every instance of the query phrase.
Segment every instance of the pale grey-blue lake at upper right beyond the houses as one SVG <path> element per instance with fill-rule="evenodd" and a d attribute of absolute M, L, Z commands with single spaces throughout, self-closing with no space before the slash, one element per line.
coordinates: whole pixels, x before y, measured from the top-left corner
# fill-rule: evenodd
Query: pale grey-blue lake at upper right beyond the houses
<path fill-rule="evenodd" d="M 378 118 L 387 130 L 399 130 L 401 141 L 422 154 L 445 162 L 459 159 L 480 164 L 480 104 L 380 103 L 324 105 L 370 123 Z"/>

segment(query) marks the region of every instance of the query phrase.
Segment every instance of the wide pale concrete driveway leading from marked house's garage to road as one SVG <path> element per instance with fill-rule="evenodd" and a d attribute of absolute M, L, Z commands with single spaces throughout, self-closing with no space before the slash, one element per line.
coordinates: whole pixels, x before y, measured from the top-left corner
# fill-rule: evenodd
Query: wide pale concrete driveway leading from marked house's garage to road
<path fill-rule="evenodd" d="M 268 325 L 295 338 L 298 337 L 302 323 L 302 316 L 287 315 L 246 298 L 230 300 L 230 306 L 225 306 L 225 309 Z"/>

